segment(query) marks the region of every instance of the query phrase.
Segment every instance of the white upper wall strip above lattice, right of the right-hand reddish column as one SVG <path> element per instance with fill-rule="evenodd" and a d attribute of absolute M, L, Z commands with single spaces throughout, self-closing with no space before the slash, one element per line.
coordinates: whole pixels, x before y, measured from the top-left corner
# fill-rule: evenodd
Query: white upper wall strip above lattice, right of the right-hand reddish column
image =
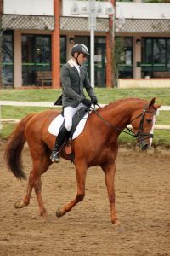
<path fill-rule="evenodd" d="M 116 3 L 116 18 L 170 19 L 170 3 Z"/>

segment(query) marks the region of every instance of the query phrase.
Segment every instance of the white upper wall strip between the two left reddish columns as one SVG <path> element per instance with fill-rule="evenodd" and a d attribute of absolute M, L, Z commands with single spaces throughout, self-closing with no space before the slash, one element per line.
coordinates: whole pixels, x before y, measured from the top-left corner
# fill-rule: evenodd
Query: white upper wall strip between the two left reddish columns
<path fill-rule="evenodd" d="M 54 15 L 54 0 L 3 0 L 3 12 L 10 15 Z"/>

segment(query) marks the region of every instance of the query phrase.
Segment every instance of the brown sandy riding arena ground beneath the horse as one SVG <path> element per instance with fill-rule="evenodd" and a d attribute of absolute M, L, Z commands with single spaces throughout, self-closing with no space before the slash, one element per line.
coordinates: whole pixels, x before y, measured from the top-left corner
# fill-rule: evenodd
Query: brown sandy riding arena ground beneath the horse
<path fill-rule="evenodd" d="M 74 165 L 54 164 L 42 176 L 42 196 L 48 219 L 39 217 L 34 191 L 31 203 L 14 209 L 26 191 L 26 181 L 16 180 L 3 163 L 0 143 L 0 255 L 170 255 L 170 154 L 121 150 L 116 160 L 116 209 L 122 230 L 110 221 L 104 173 L 88 170 L 84 201 L 62 218 L 58 206 L 76 195 Z M 29 150 L 23 151 L 29 175 Z"/>

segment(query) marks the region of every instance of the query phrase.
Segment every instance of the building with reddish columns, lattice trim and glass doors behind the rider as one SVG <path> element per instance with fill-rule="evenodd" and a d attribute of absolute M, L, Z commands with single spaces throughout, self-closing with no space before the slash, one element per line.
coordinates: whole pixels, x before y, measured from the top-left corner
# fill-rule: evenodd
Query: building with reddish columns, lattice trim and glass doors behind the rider
<path fill-rule="evenodd" d="M 111 0 L 114 5 L 114 0 Z M 124 60 L 119 86 L 160 83 L 170 87 L 170 3 L 116 2 L 116 15 L 96 2 L 95 86 L 112 87 L 112 38 L 122 37 Z M 90 32 L 87 1 L 1 0 L 3 87 L 59 88 L 59 68 L 71 57 L 71 47 L 87 44 Z M 87 62 L 90 75 L 90 61 Z"/>

